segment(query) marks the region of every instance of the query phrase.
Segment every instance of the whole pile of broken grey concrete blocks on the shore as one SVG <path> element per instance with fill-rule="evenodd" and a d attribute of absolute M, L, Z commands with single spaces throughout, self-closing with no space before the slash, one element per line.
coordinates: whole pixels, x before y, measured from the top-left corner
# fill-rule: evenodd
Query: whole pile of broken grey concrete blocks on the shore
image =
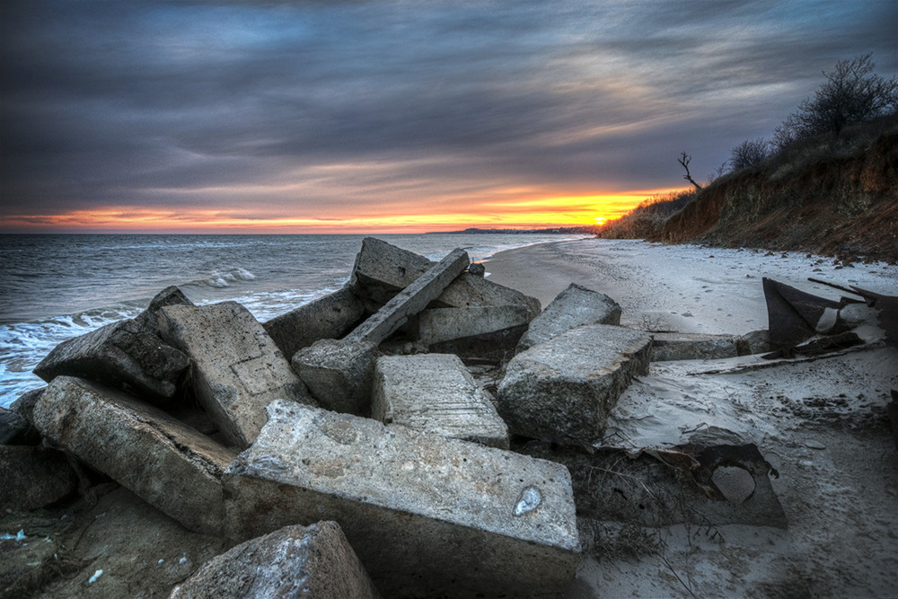
<path fill-rule="evenodd" d="M 763 339 L 620 322 L 612 298 L 583 286 L 542 311 L 462 250 L 432 262 L 373 238 L 346 286 L 269 322 L 170 287 L 40 363 L 48 386 L 0 413 L 0 463 L 21 473 L 0 496 L 35 510 L 111 480 L 230 548 L 152 589 L 172 597 L 559 596 L 580 559 L 578 516 L 669 520 L 640 488 L 686 489 L 677 497 L 703 522 L 784 526 L 754 445 L 603 441 L 653 352 L 729 357 Z M 632 497 L 591 476 L 621 460 L 645 481 Z M 718 467 L 734 464 L 752 500 L 718 488 Z M 65 585 L 56 555 L 27 575 L 6 568 L 0 595 Z"/>

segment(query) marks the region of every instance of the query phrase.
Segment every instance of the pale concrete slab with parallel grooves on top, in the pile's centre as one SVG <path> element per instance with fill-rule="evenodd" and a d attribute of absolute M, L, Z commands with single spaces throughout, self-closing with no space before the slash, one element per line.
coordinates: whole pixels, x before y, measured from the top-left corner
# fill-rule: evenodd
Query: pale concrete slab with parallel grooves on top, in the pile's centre
<path fill-rule="evenodd" d="M 452 354 L 380 357 L 371 411 L 384 424 L 508 448 L 508 427 L 489 393 Z"/>

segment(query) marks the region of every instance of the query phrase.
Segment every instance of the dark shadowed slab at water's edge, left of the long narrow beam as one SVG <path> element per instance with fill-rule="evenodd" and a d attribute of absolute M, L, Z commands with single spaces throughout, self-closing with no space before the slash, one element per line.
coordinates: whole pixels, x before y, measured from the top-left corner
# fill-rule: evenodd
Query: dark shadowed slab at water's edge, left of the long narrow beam
<path fill-rule="evenodd" d="M 290 358 L 319 339 L 343 337 L 364 317 L 365 304 L 352 293 L 351 287 L 343 286 L 339 291 L 263 322 L 262 326 L 284 356 Z"/>

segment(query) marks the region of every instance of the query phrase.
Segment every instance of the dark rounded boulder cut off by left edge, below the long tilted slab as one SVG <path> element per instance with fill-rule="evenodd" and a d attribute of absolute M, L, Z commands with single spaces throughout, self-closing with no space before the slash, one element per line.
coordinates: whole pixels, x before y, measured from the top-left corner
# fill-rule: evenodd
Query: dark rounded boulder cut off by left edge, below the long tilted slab
<path fill-rule="evenodd" d="M 78 479 L 66 454 L 48 447 L 0 445 L 0 506 L 32 510 L 75 492 Z"/>

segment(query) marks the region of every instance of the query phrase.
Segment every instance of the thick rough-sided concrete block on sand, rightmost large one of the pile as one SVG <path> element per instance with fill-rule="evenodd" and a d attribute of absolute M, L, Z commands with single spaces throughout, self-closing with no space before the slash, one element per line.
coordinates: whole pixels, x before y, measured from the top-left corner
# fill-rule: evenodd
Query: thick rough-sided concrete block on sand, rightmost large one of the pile
<path fill-rule="evenodd" d="M 652 339 L 591 324 L 513 357 L 498 387 L 499 415 L 516 435 L 592 444 L 636 374 L 648 374 Z"/>

